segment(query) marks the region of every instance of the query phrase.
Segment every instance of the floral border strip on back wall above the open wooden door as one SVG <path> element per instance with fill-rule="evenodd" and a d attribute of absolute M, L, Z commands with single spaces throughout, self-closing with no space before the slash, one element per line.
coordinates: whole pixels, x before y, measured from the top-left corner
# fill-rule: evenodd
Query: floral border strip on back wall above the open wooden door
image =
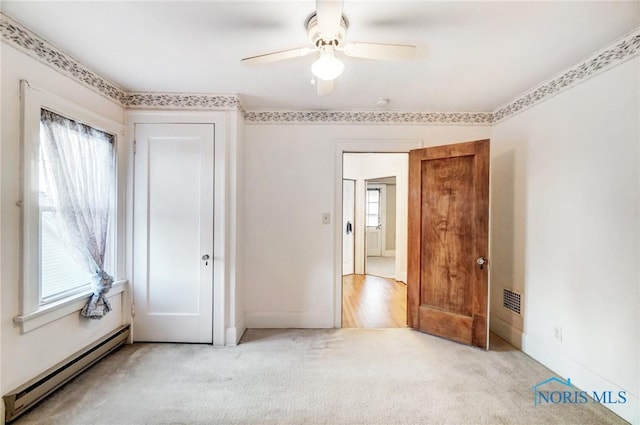
<path fill-rule="evenodd" d="M 491 125 L 491 112 L 393 112 L 393 111 L 247 111 L 248 123 L 342 124 L 483 124 Z"/>

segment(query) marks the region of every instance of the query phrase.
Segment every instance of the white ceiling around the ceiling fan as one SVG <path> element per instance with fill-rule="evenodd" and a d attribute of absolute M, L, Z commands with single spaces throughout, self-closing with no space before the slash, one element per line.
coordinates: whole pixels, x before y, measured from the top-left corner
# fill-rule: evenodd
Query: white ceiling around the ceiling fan
<path fill-rule="evenodd" d="M 493 111 L 640 26 L 638 1 L 345 0 L 347 41 L 418 46 L 410 62 L 346 58 L 333 94 L 309 55 L 314 0 L 10 1 L 3 12 L 128 91 L 238 94 L 247 109 Z"/>

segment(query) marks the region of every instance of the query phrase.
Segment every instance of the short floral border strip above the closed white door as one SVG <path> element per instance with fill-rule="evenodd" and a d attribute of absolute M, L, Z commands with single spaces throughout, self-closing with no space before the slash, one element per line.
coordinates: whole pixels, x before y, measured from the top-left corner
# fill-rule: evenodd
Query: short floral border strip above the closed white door
<path fill-rule="evenodd" d="M 131 92 L 124 95 L 122 105 L 130 109 L 236 109 L 240 102 L 236 95 Z"/>

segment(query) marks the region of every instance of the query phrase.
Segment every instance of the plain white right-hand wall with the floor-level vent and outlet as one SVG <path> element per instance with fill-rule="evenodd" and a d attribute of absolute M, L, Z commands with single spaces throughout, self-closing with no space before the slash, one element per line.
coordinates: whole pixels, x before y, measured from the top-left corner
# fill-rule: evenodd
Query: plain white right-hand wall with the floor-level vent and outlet
<path fill-rule="evenodd" d="M 491 146 L 491 329 L 583 390 L 627 391 L 609 407 L 634 423 L 639 75 L 636 57 L 495 125 Z M 523 293 L 522 319 L 504 287 Z"/>

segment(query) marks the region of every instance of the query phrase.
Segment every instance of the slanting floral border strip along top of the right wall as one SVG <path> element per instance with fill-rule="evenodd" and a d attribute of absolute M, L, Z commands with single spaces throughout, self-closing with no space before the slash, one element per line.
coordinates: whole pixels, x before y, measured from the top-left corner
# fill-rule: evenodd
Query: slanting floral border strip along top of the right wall
<path fill-rule="evenodd" d="M 600 52 L 568 70 L 551 77 L 538 87 L 525 92 L 493 113 L 498 123 L 607 69 L 620 65 L 640 53 L 640 28 L 618 39 Z"/>

